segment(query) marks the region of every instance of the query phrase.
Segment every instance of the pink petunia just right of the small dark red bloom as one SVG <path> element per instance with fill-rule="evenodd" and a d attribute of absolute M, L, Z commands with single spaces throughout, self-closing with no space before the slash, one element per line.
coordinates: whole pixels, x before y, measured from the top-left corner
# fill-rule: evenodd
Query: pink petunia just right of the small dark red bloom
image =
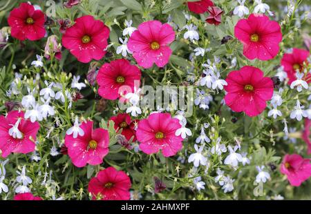
<path fill-rule="evenodd" d="M 153 113 L 138 123 L 136 137 L 140 149 L 150 155 L 162 150 L 164 157 L 176 155 L 182 149 L 182 137 L 176 136 L 181 125 L 169 113 Z"/>

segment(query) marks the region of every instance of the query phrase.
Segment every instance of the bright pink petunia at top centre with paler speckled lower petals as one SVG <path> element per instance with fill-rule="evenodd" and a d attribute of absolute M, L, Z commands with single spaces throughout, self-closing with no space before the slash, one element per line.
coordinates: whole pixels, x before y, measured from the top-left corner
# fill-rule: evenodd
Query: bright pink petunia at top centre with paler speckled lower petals
<path fill-rule="evenodd" d="M 133 52 L 138 65 L 151 68 L 155 63 L 159 67 L 164 67 L 168 64 L 172 53 L 168 45 L 174 39 L 175 32 L 168 23 L 146 21 L 131 34 L 127 47 Z"/>

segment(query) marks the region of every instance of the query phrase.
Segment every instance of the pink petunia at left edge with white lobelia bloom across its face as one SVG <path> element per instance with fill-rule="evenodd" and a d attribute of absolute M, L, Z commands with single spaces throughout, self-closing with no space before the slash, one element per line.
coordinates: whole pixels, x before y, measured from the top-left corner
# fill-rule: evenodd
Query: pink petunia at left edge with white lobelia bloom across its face
<path fill-rule="evenodd" d="M 40 125 L 25 119 L 24 113 L 12 110 L 6 117 L 0 116 L 0 150 L 2 157 L 10 153 L 31 153 L 35 150 L 35 141 Z"/>

